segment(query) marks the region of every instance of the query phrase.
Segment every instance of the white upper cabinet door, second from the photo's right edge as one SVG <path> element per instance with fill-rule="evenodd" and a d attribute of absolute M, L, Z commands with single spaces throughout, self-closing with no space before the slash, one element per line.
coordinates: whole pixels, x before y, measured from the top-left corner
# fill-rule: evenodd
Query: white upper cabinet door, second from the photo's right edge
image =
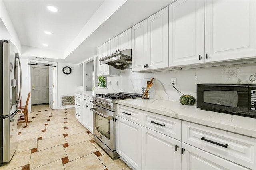
<path fill-rule="evenodd" d="M 176 1 L 169 7 L 169 67 L 204 63 L 204 1 Z"/>

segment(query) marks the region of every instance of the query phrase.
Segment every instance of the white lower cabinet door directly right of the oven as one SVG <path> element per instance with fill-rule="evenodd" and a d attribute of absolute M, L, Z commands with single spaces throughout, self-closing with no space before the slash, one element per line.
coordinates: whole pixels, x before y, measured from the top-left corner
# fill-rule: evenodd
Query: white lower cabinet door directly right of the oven
<path fill-rule="evenodd" d="M 136 169 L 141 169 L 142 126 L 117 116 L 116 152 Z"/>

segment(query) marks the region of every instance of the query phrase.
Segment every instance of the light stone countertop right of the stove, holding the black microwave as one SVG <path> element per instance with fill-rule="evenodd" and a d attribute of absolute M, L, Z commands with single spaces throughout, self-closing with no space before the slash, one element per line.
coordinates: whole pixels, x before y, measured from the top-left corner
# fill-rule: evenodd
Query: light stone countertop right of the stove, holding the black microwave
<path fill-rule="evenodd" d="M 230 115 L 162 99 L 117 100 L 117 104 L 256 138 L 256 118 Z"/>

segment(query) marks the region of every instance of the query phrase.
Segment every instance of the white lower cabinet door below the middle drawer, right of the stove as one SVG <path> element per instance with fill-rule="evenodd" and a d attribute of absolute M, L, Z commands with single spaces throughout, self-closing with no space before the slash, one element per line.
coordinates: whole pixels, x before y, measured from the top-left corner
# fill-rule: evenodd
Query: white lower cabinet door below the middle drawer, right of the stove
<path fill-rule="evenodd" d="M 142 143 L 143 170 L 178 170 L 181 168 L 180 141 L 142 127 Z"/>

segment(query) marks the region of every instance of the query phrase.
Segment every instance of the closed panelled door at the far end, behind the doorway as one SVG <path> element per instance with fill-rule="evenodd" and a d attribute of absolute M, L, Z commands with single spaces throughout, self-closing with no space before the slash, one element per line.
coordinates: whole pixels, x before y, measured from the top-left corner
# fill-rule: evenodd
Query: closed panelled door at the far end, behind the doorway
<path fill-rule="evenodd" d="M 32 66 L 32 106 L 49 104 L 49 68 Z"/>

